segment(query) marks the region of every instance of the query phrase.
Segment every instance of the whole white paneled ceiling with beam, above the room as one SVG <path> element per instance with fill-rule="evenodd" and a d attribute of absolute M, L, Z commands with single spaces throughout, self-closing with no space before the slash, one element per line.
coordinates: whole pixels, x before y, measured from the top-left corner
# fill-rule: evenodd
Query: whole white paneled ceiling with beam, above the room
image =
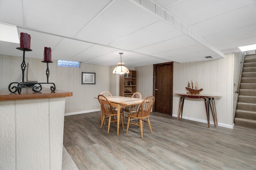
<path fill-rule="evenodd" d="M 126 66 L 224 57 L 256 44 L 256 0 L 0 0 L 0 22 L 31 36 L 26 57 Z M 0 54 L 22 56 L 0 41 Z"/>

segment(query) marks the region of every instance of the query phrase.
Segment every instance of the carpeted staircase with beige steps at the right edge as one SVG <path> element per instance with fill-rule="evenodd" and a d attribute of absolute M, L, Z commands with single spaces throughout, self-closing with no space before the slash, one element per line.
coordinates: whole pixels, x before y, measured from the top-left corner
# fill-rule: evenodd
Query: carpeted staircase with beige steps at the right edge
<path fill-rule="evenodd" d="M 236 126 L 256 129 L 256 54 L 246 55 L 238 96 Z"/>

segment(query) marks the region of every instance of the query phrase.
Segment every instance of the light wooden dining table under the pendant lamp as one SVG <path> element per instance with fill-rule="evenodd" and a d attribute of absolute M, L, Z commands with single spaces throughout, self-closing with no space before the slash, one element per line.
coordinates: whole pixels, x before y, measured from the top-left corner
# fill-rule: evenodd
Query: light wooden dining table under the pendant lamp
<path fill-rule="evenodd" d="M 120 109 L 126 106 L 132 106 L 140 104 L 143 99 L 130 98 L 124 96 L 109 96 L 106 97 L 111 102 L 111 105 L 117 108 L 117 135 L 119 135 L 119 124 L 120 124 Z M 102 110 L 100 111 L 101 121 L 102 121 Z"/>

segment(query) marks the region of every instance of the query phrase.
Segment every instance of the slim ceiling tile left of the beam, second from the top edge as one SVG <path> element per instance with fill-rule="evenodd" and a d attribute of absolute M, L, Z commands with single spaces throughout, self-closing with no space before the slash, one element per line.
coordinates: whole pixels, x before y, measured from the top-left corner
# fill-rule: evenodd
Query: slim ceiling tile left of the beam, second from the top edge
<path fill-rule="evenodd" d="M 171 39 L 183 35 L 180 31 L 164 21 L 154 23 L 148 27 L 140 29 L 118 41 L 110 43 L 112 47 L 122 49 L 138 49 L 148 45 L 152 45 L 161 41 Z"/>

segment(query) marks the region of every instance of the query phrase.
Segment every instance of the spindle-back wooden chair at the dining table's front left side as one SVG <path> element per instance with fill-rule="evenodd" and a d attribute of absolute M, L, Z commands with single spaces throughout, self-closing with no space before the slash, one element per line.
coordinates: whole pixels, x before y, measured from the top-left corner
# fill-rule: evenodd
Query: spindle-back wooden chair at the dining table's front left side
<path fill-rule="evenodd" d="M 110 123 L 117 121 L 117 119 L 114 118 L 115 116 L 117 117 L 117 111 L 112 109 L 112 105 L 109 102 L 108 98 L 106 98 L 106 96 L 103 96 L 100 94 L 98 96 L 98 100 L 100 102 L 100 106 L 101 106 L 102 113 L 103 113 L 103 118 L 101 121 L 100 129 L 102 129 L 103 122 L 105 122 L 105 119 L 108 118 L 108 133 L 109 133 Z M 123 121 L 123 117 L 122 117 L 121 113 L 120 113 L 120 120 L 122 123 L 122 127 L 124 129 L 124 121 Z"/>

